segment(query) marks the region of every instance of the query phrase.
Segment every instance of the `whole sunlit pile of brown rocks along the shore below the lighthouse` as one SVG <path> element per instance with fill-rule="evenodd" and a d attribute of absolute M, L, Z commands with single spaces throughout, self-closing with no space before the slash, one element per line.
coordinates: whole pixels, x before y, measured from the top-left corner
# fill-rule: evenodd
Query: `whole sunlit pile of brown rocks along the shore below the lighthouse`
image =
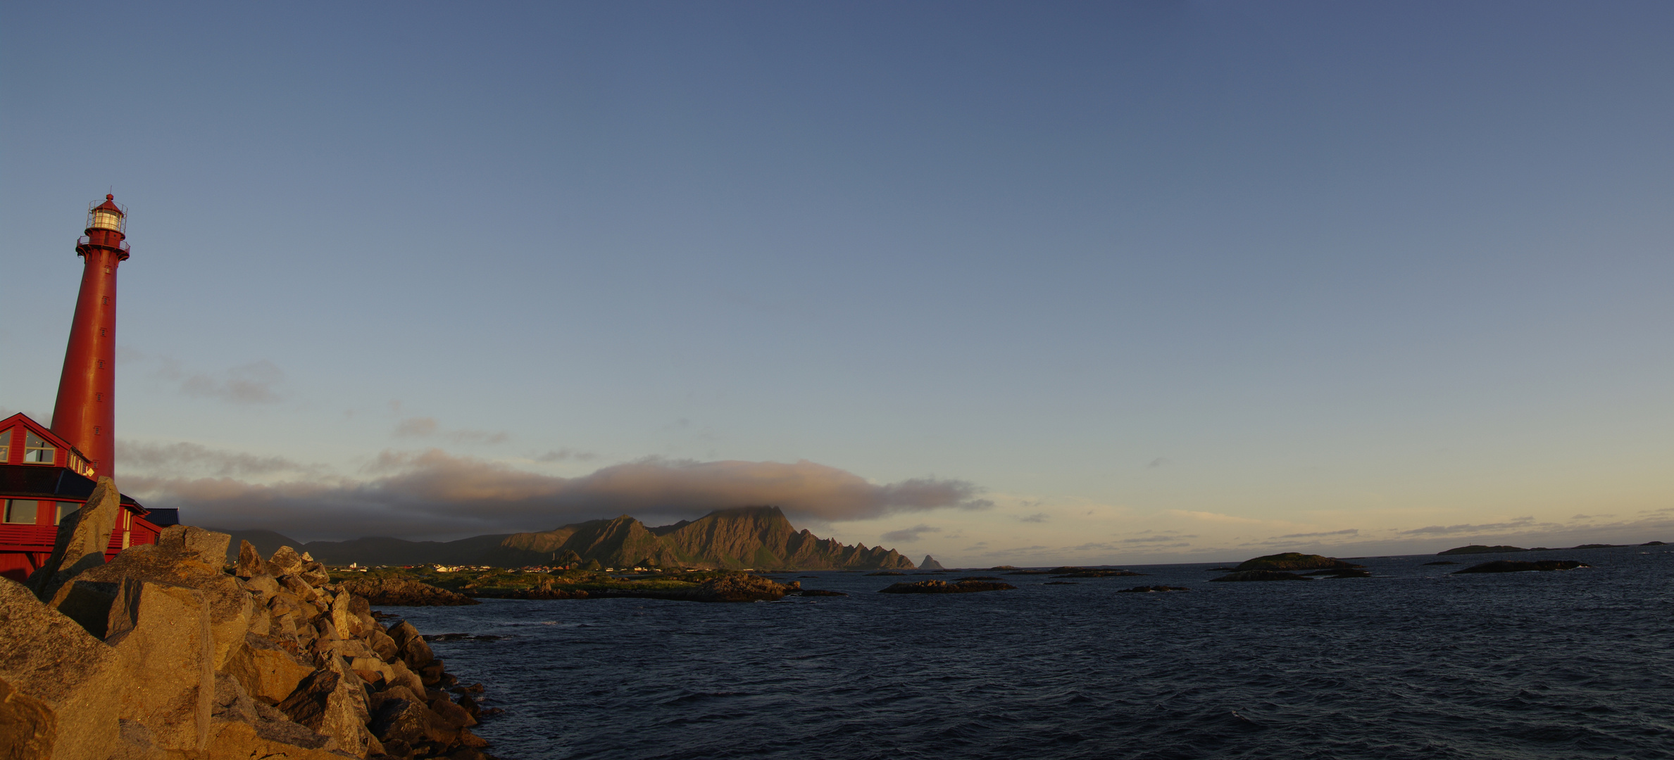
<path fill-rule="evenodd" d="M 487 757 L 475 701 L 445 691 L 457 680 L 413 626 L 383 628 L 290 547 L 263 561 L 243 544 L 228 574 L 228 541 L 171 526 L 69 579 L 74 551 L 32 588 L 0 579 L 0 755 Z"/>

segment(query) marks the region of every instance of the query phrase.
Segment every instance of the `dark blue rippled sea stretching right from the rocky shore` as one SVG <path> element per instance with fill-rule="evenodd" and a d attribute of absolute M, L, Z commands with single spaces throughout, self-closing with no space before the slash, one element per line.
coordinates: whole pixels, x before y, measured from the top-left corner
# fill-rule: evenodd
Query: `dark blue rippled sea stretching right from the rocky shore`
<path fill-rule="evenodd" d="M 1451 574 L 1488 559 L 1592 567 Z M 517 760 L 1674 757 L 1674 546 L 1356 562 L 1374 578 L 782 573 L 850 596 L 385 611 L 502 636 L 432 646 Z M 968 574 L 1018 589 L 877 593 Z"/>

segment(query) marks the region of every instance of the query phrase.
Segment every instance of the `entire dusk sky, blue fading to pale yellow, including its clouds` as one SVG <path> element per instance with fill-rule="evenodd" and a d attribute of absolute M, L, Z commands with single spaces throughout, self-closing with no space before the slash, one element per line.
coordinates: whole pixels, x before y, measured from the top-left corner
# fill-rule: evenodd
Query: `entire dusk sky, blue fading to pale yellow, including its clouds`
<path fill-rule="evenodd" d="M 12 3 L 0 407 L 298 537 L 1674 537 L 1667 3 Z M 805 465 L 798 465 L 805 462 Z M 887 537 L 886 537 L 887 536 Z"/>

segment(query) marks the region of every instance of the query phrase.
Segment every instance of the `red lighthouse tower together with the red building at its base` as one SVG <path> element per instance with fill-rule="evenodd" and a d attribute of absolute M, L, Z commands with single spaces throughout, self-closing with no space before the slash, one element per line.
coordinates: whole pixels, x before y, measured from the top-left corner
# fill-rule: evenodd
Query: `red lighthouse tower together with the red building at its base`
<path fill-rule="evenodd" d="M 87 502 L 95 477 L 116 470 L 116 271 L 129 253 L 127 209 L 105 196 L 87 209 L 75 241 L 82 286 L 52 427 L 22 413 L 0 420 L 0 576 L 22 581 L 40 567 L 59 521 Z M 156 544 L 159 526 L 174 522 L 174 511 L 147 511 L 124 496 L 105 557 Z"/>

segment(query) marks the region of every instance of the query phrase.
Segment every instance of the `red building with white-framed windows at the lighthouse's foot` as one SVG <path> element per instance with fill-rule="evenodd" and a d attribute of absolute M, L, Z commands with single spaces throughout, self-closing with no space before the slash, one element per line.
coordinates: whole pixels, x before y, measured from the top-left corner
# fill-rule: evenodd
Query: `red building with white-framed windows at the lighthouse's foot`
<path fill-rule="evenodd" d="M 15 413 L 0 420 L 0 576 L 23 581 L 52 556 L 59 521 L 94 492 L 87 457 L 45 425 Z M 161 514 L 159 514 L 161 512 Z M 122 497 L 105 559 L 134 544 L 156 544 L 176 522 L 172 511 L 147 511 Z"/>

